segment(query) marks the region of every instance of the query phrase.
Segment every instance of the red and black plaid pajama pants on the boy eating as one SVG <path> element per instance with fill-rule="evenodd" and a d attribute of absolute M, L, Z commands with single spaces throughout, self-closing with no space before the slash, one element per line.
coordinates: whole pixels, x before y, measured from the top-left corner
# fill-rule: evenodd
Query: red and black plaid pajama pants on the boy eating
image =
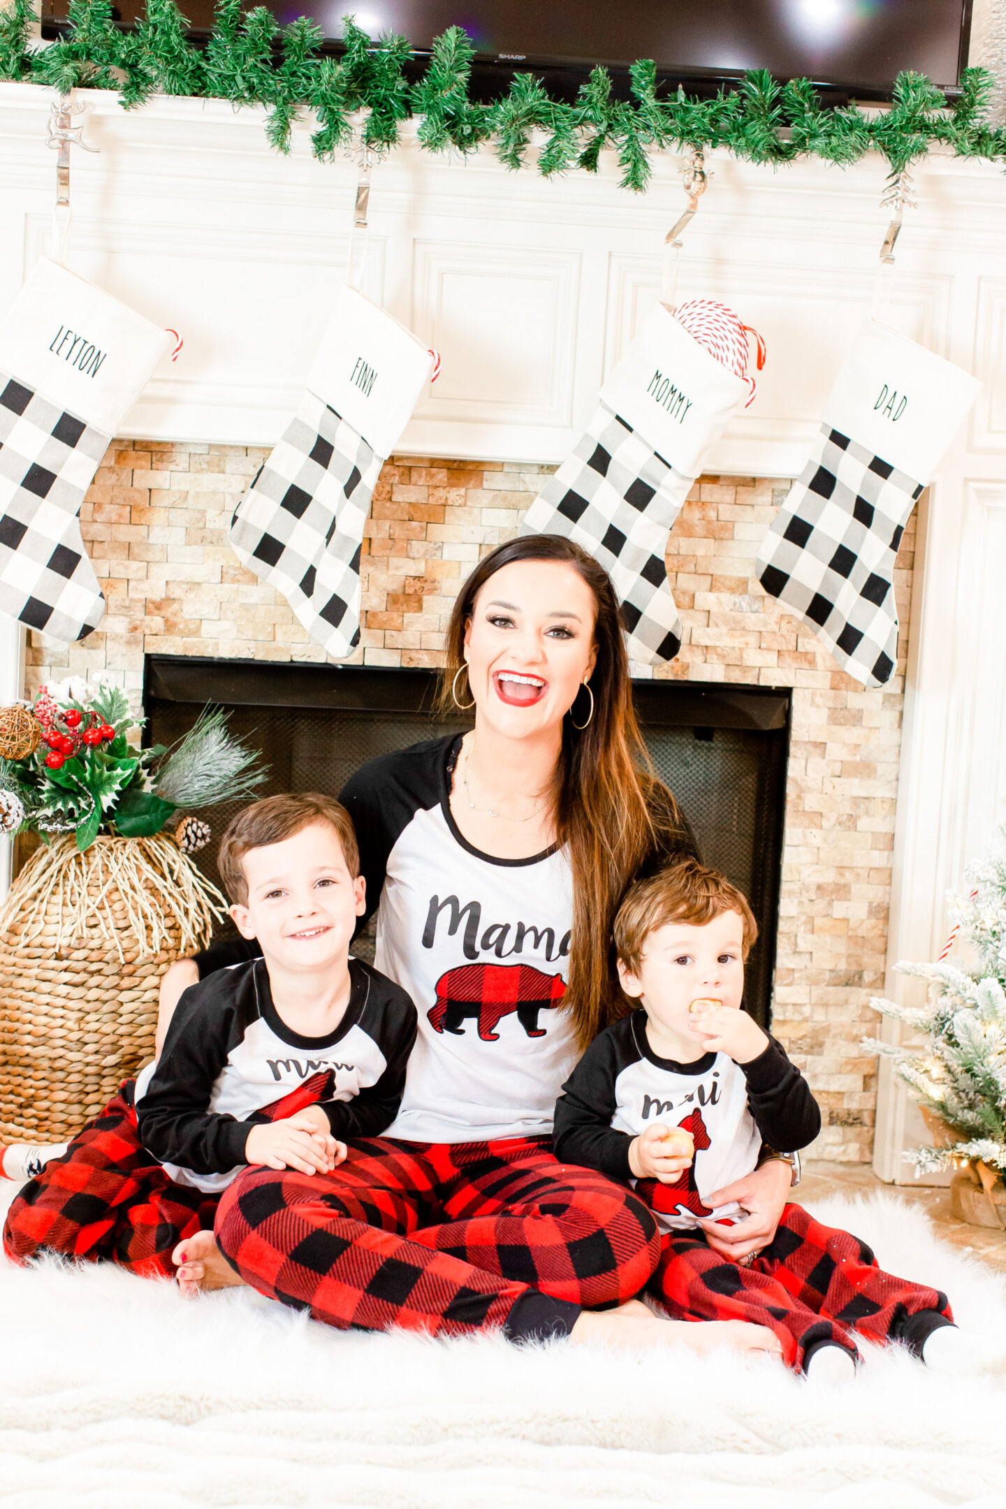
<path fill-rule="evenodd" d="M 774 1240 L 750 1268 L 713 1252 L 703 1231 L 661 1242 L 647 1292 L 673 1319 L 765 1325 L 795 1372 L 834 1343 L 858 1358 L 857 1335 L 903 1342 L 919 1354 L 931 1331 L 953 1322 L 946 1295 L 885 1274 L 866 1242 L 822 1225 L 802 1206 L 783 1209 Z"/>

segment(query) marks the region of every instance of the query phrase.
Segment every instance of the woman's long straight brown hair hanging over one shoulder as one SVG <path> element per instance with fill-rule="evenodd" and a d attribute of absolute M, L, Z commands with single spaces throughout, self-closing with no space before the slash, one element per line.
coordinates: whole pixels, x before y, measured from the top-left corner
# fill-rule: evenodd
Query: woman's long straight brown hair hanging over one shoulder
<path fill-rule="evenodd" d="M 590 676 L 594 714 L 585 729 L 563 720 L 557 768 L 555 830 L 573 871 L 573 928 L 566 1000 L 581 1049 L 624 1011 L 611 949 L 618 902 L 655 851 L 692 851 L 673 795 L 653 774 L 632 708 L 629 661 L 611 578 L 587 551 L 558 534 L 525 534 L 496 546 L 462 587 L 446 631 L 439 705 L 452 708 L 451 687 L 465 664 L 465 632 L 475 599 L 495 572 L 514 561 L 572 566 L 590 587 L 597 620 L 597 661 Z M 573 712 L 590 708 L 578 696 Z"/>

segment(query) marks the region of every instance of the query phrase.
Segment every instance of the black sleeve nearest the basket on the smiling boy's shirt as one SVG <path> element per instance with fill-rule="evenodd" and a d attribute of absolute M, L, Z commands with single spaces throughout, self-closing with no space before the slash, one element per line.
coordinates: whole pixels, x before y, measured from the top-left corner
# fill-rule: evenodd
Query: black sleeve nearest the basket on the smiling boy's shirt
<path fill-rule="evenodd" d="M 228 1053 L 244 1035 L 238 973 L 247 970 L 219 972 L 182 993 L 154 1076 L 136 1106 L 143 1147 L 160 1163 L 193 1174 L 226 1174 L 244 1163 L 244 1142 L 255 1124 L 208 1109 Z"/>

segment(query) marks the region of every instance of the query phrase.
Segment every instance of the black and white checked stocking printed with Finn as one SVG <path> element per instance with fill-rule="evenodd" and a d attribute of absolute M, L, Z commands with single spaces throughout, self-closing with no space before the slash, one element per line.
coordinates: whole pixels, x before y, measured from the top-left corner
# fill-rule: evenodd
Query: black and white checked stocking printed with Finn
<path fill-rule="evenodd" d="M 336 659 L 360 637 L 360 548 L 374 484 L 433 362 L 404 326 L 342 288 L 308 392 L 231 524 L 238 558 Z"/>

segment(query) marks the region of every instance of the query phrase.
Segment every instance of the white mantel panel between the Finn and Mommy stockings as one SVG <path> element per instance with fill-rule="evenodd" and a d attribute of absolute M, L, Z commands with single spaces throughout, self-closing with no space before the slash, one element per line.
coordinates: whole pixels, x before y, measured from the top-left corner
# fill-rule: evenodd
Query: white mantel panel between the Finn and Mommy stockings
<path fill-rule="evenodd" d="M 495 456 L 501 429 L 534 436 L 534 456 L 561 450 L 573 424 L 579 281 L 579 252 L 416 240 L 412 329 L 442 368 L 406 445 L 449 424 L 462 454 Z"/>

